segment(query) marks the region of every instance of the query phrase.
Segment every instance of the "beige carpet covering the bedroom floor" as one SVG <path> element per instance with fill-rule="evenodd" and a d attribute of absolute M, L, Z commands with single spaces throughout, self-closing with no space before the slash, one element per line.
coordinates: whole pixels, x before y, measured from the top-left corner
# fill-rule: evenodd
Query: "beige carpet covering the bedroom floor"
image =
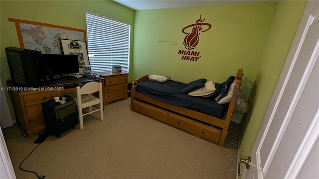
<path fill-rule="evenodd" d="M 235 179 L 236 172 L 223 170 L 230 155 L 217 144 L 168 126 L 130 110 L 130 98 L 104 107 L 104 120 L 87 115 L 79 126 L 49 136 L 22 168 L 45 179 Z M 38 145 L 14 125 L 3 129 L 17 179 L 36 179 L 19 169 Z M 233 136 L 231 136 L 233 135 Z M 234 133 L 227 143 L 236 142 Z M 236 169 L 237 144 L 227 145 Z"/>

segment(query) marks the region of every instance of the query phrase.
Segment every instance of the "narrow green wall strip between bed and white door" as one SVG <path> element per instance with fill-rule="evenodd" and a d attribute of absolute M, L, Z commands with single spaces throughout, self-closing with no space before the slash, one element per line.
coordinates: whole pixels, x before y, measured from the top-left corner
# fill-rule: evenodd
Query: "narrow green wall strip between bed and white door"
<path fill-rule="evenodd" d="M 253 110 L 251 114 L 244 116 L 247 121 L 239 147 L 241 156 L 247 158 L 251 152 L 306 3 L 305 0 L 283 0 L 278 4 L 249 97 L 251 101 L 255 101 Z"/>

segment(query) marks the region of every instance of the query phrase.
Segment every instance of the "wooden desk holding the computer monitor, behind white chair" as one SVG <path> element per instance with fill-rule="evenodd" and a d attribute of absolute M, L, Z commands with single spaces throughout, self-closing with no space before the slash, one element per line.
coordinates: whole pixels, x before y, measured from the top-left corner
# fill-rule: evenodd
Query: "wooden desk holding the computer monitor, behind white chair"
<path fill-rule="evenodd" d="M 12 85 L 9 82 L 8 92 L 15 111 L 16 122 L 22 132 L 29 137 L 34 137 L 37 134 L 30 134 L 40 133 L 45 130 L 42 102 L 46 102 L 56 96 L 62 96 L 67 92 L 76 91 L 77 86 L 83 86 L 92 81 L 96 80 L 72 79 L 54 82 L 52 85 L 42 87 L 23 87 Z M 104 79 L 101 82 L 104 86 Z"/>

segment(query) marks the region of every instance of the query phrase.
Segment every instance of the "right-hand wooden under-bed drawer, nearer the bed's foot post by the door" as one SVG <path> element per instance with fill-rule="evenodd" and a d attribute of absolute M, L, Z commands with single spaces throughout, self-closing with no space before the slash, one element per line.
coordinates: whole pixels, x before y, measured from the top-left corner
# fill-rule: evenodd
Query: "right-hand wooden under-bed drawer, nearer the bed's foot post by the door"
<path fill-rule="evenodd" d="M 217 144 L 221 135 L 219 129 L 171 113 L 168 114 L 168 124 Z"/>

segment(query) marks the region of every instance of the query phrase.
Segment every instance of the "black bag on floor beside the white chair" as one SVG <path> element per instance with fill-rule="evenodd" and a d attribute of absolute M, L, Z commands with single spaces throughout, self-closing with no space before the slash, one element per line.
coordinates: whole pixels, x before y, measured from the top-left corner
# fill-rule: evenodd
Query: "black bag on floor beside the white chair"
<path fill-rule="evenodd" d="M 48 135 L 60 137 L 60 133 L 75 128 L 79 123 L 78 110 L 75 100 L 65 95 L 65 103 L 56 102 L 55 99 L 42 103 L 42 111 L 44 116 L 45 132 Z M 60 100 L 63 100 L 60 97 Z"/>

